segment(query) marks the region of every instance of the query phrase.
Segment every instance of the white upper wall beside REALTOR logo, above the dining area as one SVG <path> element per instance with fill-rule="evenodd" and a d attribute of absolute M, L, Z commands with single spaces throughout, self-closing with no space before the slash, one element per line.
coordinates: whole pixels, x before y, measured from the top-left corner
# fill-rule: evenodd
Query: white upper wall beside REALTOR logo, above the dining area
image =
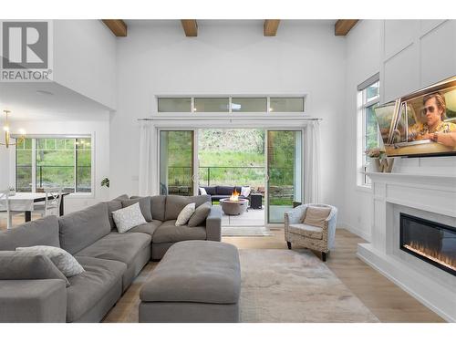
<path fill-rule="evenodd" d="M 54 20 L 54 81 L 116 108 L 116 37 L 100 20 Z"/>

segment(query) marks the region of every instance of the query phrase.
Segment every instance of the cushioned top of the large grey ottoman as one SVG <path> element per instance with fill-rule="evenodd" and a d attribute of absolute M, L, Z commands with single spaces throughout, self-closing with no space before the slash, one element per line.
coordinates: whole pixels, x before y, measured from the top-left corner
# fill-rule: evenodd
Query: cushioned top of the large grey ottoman
<path fill-rule="evenodd" d="M 173 244 L 141 288 L 142 302 L 235 304 L 241 290 L 239 254 L 233 244 Z"/>

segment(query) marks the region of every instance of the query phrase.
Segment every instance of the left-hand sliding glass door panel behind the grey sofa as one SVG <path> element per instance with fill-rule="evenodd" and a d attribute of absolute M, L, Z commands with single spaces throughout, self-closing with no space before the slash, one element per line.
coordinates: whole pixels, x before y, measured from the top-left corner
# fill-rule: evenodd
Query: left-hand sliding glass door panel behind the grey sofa
<path fill-rule="evenodd" d="M 160 193 L 192 196 L 194 130 L 160 131 Z"/>

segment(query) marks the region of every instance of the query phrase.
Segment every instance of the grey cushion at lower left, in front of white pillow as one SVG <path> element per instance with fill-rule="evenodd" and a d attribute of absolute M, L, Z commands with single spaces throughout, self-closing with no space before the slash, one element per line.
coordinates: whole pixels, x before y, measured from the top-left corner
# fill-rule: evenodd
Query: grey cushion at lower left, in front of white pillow
<path fill-rule="evenodd" d="M 69 286 L 67 277 L 43 254 L 0 252 L 0 264 L 2 280 L 62 279 Z"/>

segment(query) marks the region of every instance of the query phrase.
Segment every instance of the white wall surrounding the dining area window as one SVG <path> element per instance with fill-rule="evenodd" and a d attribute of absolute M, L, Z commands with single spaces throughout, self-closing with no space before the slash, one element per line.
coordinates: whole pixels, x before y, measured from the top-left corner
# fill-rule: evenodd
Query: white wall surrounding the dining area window
<path fill-rule="evenodd" d="M 101 188 L 100 182 L 109 177 L 109 113 L 97 113 L 97 119 L 90 121 L 15 121 L 11 122 L 12 130 L 19 127 L 27 134 L 90 134 L 95 157 L 95 192 L 92 195 L 70 194 L 65 198 L 65 212 L 75 212 L 89 205 L 109 200 L 109 190 Z M 10 149 L 9 168 L 14 168 L 14 150 Z M 2 170 L 4 169 L 2 164 Z M 9 172 L 9 183 L 15 184 L 14 170 Z"/>

